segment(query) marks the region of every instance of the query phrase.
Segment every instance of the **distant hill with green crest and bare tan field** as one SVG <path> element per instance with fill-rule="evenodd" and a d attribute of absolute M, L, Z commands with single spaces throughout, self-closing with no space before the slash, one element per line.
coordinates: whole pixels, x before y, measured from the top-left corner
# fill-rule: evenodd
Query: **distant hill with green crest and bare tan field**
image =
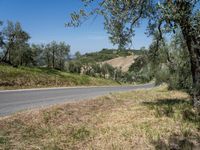
<path fill-rule="evenodd" d="M 103 49 L 99 52 L 86 53 L 72 59 L 75 62 L 81 62 L 84 65 L 110 64 L 114 68 L 119 68 L 123 72 L 127 72 L 134 60 L 145 53 L 143 50 L 117 50 Z"/>

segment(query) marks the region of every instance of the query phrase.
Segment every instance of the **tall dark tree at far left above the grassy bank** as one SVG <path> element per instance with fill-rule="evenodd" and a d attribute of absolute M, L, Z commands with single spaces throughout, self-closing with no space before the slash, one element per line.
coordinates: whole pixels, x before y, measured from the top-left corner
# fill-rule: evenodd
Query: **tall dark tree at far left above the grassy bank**
<path fill-rule="evenodd" d="M 30 36 L 26 33 L 19 22 L 15 24 L 8 21 L 7 26 L 2 31 L 4 56 L 1 61 L 11 65 L 23 65 L 24 59 L 27 63 L 26 50 L 29 50 L 28 40 Z"/>

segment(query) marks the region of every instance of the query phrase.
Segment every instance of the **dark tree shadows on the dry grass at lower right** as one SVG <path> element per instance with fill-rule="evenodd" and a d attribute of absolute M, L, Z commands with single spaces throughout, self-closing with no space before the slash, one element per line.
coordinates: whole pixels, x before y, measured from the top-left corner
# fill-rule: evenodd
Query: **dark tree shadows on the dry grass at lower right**
<path fill-rule="evenodd" d="M 191 123 L 200 131 L 200 114 L 186 99 L 158 99 L 155 102 L 143 102 L 154 110 L 156 117 L 170 117 L 180 123 Z M 197 150 L 200 149 L 200 136 L 191 130 L 183 129 L 181 135 L 172 133 L 169 139 L 152 141 L 157 150 Z"/>

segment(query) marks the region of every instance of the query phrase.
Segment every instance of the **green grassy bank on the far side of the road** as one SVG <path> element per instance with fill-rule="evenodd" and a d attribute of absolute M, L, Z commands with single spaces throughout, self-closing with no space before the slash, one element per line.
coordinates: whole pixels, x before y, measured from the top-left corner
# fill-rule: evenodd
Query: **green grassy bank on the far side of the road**
<path fill-rule="evenodd" d="M 0 65 L 0 89 L 77 85 L 119 85 L 119 83 L 112 80 L 70 74 L 47 68 L 14 68 Z"/>

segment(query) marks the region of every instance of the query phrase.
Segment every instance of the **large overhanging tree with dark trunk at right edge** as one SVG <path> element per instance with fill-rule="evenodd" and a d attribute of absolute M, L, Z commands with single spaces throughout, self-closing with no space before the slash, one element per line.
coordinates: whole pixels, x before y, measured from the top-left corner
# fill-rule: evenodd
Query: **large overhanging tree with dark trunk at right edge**
<path fill-rule="evenodd" d="M 72 20 L 67 26 L 79 26 L 89 16 L 100 14 L 105 18 L 105 28 L 110 33 L 110 37 L 125 40 L 122 40 L 122 43 L 131 41 L 134 27 L 138 26 L 142 19 L 149 21 L 150 35 L 159 33 L 157 50 L 163 40 L 163 34 L 180 30 L 191 63 L 193 102 L 195 106 L 200 107 L 200 11 L 196 9 L 199 0 L 82 0 L 82 2 L 86 9 L 72 13 Z M 87 9 L 95 2 L 98 3 L 96 8 Z M 120 30 L 119 26 L 121 26 Z M 113 34 L 112 30 L 118 34 Z M 128 39 L 126 39 L 127 35 Z M 117 42 L 121 43 L 121 41 Z M 113 43 L 115 44 L 115 41 Z"/>

